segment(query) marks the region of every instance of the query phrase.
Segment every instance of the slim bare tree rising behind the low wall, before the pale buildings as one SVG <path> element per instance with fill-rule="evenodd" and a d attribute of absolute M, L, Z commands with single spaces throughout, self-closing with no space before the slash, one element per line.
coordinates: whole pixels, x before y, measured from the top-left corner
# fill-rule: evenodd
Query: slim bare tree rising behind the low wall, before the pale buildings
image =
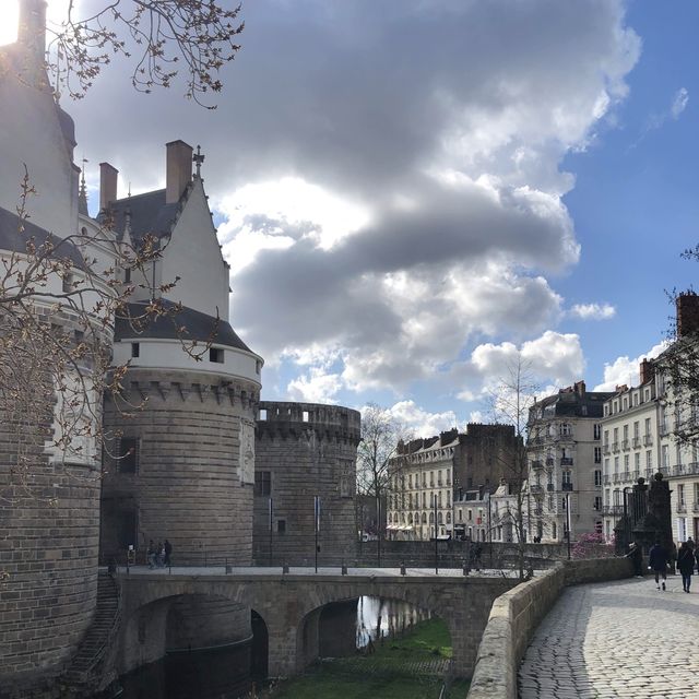
<path fill-rule="evenodd" d="M 510 362 L 503 376 L 489 391 L 489 406 L 495 423 L 511 425 L 514 440 L 509 448 L 497 452 L 503 477 L 510 484 L 514 496 L 514 511 L 510 510 L 518 544 L 518 568 L 520 579 L 525 577 L 524 555 L 526 550 L 526 528 L 529 507 L 529 459 L 526 451 L 526 429 L 530 408 L 538 392 L 531 366 L 518 354 Z"/>

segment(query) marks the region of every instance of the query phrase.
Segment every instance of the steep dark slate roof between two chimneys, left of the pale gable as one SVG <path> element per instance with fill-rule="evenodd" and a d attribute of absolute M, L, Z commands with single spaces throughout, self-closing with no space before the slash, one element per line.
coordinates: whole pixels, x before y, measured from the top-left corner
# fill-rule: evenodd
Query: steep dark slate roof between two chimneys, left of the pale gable
<path fill-rule="evenodd" d="M 131 216 L 131 238 L 138 247 L 146 235 L 165 238 L 170 235 L 179 213 L 179 203 L 166 204 L 165 190 L 158 189 L 127 199 L 118 199 L 109 204 L 110 216 L 117 238 L 126 230 L 127 215 Z"/>

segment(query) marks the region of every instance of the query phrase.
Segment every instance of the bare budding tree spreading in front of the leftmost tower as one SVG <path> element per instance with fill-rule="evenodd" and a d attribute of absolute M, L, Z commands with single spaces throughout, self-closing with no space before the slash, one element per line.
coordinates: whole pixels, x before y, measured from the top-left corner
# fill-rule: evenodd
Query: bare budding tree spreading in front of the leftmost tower
<path fill-rule="evenodd" d="M 121 398 L 125 413 L 141 407 L 122 395 L 129 365 L 112 364 L 116 319 L 138 333 L 164 318 L 191 356 L 208 347 L 189 342 L 187 329 L 177 325 L 180 307 L 164 298 L 174 281 L 149 288 L 150 301 L 130 303 L 137 286 L 125 283 L 122 271 L 143 270 L 159 257 L 154 239 L 134 249 L 108 225 L 55 236 L 31 223 L 34 193 L 25 170 L 16 234 L 0 250 L 0 424 L 11 464 L 0 501 L 34 497 L 50 503 L 33 488 L 47 460 L 54 469 L 97 467 L 102 450 L 118 436 L 103 431 L 105 392 Z"/>

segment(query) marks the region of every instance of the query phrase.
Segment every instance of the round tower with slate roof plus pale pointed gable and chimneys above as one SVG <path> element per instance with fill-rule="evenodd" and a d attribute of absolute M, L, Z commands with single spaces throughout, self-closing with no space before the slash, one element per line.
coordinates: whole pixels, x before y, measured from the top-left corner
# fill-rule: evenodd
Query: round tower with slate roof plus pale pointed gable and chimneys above
<path fill-rule="evenodd" d="M 118 199 L 116 169 L 102 165 L 103 216 L 135 249 L 150 237 L 162 254 L 126 270 L 135 286 L 130 317 L 115 327 L 115 365 L 129 363 L 122 399 L 107 396 L 115 436 L 105 460 L 102 550 L 143 560 L 150 540 L 168 540 L 178 565 L 249 564 L 252 555 L 254 416 L 262 359 L 227 322 L 224 261 L 192 149 L 166 146 L 166 188 Z M 175 286 L 167 286 L 177 279 Z M 162 292 L 161 289 L 166 289 Z M 166 298 L 164 298 L 166 296 Z M 135 406 L 135 410 L 134 410 Z"/>

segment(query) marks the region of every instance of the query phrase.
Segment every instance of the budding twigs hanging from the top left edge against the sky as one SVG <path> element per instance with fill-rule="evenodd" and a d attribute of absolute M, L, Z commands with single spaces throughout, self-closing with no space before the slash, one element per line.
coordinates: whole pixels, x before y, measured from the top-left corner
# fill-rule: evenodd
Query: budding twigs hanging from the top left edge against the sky
<path fill-rule="evenodd" d="M 229 0 L 70 0 L 48 27 L 49 68 L 59 92 L 82 97 L 115 57 L 131 61 L 131 83 L 145 93 L 177 78 L 204 105 L 223 88 L 221 69 L 240 49 L 240 5 Z M 79 13 L 80 12 L 80 13 Z"/>

